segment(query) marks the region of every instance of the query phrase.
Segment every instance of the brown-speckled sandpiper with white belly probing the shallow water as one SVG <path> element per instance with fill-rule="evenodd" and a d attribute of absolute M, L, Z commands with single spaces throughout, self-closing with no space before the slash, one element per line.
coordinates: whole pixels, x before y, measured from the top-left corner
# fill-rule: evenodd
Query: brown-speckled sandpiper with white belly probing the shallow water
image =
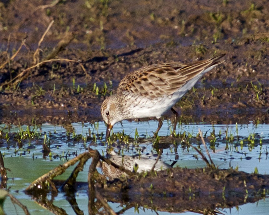
<path fill-rule="evenodd" d="M 162 114 L 171 109 L 175 114 L 173 133 L 176 130 L 178 113 L 172 108 L 190 90 L 203 74 L 223 61 L 225 54 L 193 63 L 164 63 L 141 68 L 127 74 L 119 83 L 117 93 L 106 98 L 101 114 L 107 123 L 106 137 L 116 122 L 156 117 L 158 128 L 162 127 Z"/>

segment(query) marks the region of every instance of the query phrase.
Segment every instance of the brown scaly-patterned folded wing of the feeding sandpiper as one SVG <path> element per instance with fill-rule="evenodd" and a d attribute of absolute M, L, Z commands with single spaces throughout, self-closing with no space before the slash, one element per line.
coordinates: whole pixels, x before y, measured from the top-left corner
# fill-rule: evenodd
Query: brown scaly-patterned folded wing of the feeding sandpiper
<path fill-rule="evenodd" d="M 117 95 L 123 96 L 128 92 L 149 98 L 172 95 L 188 80 L 201 74 L 206 68 L 220 64 L 222 61 L 217 60 L 222 56 L 187 64 L 167 63 L 144 67 L 122 79 L 117 89 Z"/>

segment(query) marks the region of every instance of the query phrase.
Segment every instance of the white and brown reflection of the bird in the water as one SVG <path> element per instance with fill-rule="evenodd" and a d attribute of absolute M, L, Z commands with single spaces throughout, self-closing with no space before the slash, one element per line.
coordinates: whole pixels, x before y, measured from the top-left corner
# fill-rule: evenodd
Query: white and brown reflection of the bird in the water
<path fill-rule="evenodd" d="M 151 171 L 152 166 L 155 164 L 156 159 L 151 159 L 149 157 L 142 157 L 142 156 L 120 156 L 117 155 L 114 151 L 110 152 L 108 155 L 110 161 L 113 163 L 124 167 L 125 169 L 129 171 L 134 171 L 134 169 L 137 169 L 138 173 L 141 173 L 143 171 Z M 158 160 L 158 162 L 155 164 L 154 170 L 165 170 L 168 168 L 171 168 L 172 166 Z M 105 161 L 102 161 L 101 168 L 106 177 L 113 180 L 115 178 L 120 178 L 122 176 L 127 177 L 127 174 L 116 167 L 107 164 Z"/>

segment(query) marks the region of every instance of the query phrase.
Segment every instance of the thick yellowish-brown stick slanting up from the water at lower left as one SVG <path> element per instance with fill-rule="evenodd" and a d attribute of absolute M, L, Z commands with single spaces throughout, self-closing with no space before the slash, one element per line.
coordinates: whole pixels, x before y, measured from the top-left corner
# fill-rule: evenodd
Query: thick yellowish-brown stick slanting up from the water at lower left
<path fill-rule="evenodd" d="M 48 178 L 52 179 L 58 175 L 61 175 L 63 172 L 65 172 L 65 170 L 69 167 L 74 165 L 77 161 L 79 161 L 83 156 L 87 156 L 89 152 L 86 151 L 80 155 L 78 155 L 77 157 L 73 158 L 72 160 L 66 162 L 63 165 L 59 165 L 56 168 L 54 168 L 53 170 L 49 171 L 48 173 L 42 175 L 41 177 L 37 178 L 35 181 L 33 181 L 27 188 L 25 191 L 30 192 L 32 191 L 35 187 L 37 187 L 38 185 L 40 185 L 42 182 L 45 182 Z"/>

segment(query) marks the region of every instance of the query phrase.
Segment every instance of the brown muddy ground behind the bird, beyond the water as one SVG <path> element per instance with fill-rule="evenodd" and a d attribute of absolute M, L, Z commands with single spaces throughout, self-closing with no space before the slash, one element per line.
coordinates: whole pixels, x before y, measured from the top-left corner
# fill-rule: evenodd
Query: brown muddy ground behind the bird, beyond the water
<path fill-rule="evenodd" d="M 250 1 L 1 1 L 0 123 L 41 124 L 102 120 L 100 105 L 119 81 L 149 64 L 190 62 L 227 53 L 176 105 L 181 121 L 268 123 L 269 2 Z M 42 34 L 39 58 L 34 58 Z M 25 38 L 22 49 L 16 53 Z M 75 38 L 53 61 L 66 36 Z M 83 71 L 82 66 L 86 69 Z M 74 82 L 73 82 L 74 80 Z M 110 82 L 111 81 L 111 82 Z M 16 83 L 16 82 L 15 82 Z M 93 91 L 94 83 L 99 95 Z M 104 83 L 107 92 L 102 91 Z M 112 85 L 110 84 L 112 83 Z M 78 89 L 79 85 L 79 89 Z M 167 117 L 167 116 L 165 116 Z"/>

